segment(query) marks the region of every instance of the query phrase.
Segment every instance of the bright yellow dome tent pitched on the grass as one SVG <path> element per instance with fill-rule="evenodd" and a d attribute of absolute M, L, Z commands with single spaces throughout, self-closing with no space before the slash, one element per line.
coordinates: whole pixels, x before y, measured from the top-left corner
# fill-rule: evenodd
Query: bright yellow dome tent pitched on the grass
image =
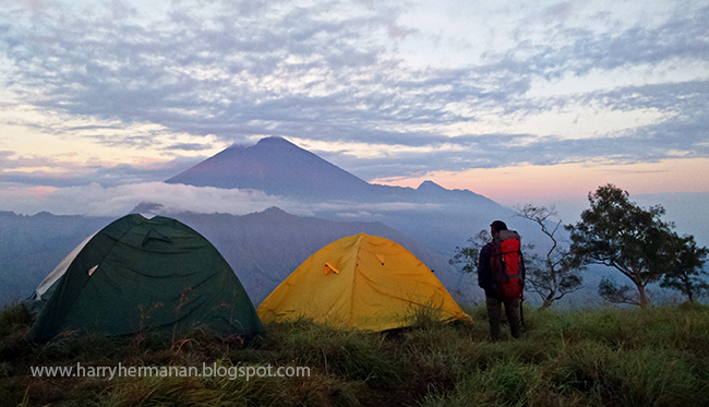
<path fill-rule="evenodd" d="M 392 240 L 365 234 L 315 252 L 261 303 L 263 322 L 319 323 L 384 331 L 411 323 L 421 309 L 443 320 L 470 320 L 419 259 Z M 434 313 L 435 314 L 435 313 Z"/>

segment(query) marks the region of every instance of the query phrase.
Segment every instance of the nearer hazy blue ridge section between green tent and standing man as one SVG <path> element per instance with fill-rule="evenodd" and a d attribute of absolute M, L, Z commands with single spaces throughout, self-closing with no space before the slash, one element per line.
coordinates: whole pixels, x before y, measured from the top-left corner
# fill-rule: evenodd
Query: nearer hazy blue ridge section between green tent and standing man
<path fill-rule="evenodd" d="M 347 236 L 368 234 L 394 240 L 431 268 L 456 300 L 479 299 L 469 275 L 448 259 L 378 222 L 333 222 L 288 214 L 271 207 L 235 216 L 228 214 L 166 214 L 191 226 L 227 259 L 257 306 L 305 259 Z"/>

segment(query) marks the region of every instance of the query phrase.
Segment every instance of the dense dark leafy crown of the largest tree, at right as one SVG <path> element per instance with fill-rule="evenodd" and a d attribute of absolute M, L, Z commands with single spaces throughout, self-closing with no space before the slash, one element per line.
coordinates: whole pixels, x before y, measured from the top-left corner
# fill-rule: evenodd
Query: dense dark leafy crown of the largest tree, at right
<path fill-rule="evenodd" d="M 635 286 L 605 279 L 599 294 L 606 300 L 648 306 L 648 284 L 677 270 L 677 255 L 686 241 L 672 231 L 673 224 L 660 219 L 662 206 L 639 207 L 613 184 L 599 187 L 588 199 L 591 207 L 581 213 L 581 220 L 566 226 L 575 263 L 614 267 Z"/>

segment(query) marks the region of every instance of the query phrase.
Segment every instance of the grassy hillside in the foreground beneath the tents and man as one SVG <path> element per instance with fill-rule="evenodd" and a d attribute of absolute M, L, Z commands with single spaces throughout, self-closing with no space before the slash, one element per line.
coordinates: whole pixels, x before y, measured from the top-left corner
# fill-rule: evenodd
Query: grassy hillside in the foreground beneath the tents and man
<path fill-rule="evenodd" d="M 519 340 L 419 315 L 409 330 L 269 324 L 248 345 L 203 330 L 31 344 L 21 306 L 0 313 L 0 403 L 109 406 L 706 406 L 709 308 L 528 311 Z M 33 378 L 49 367 L 309 367 L 308 378 Z M 195 368 L 196 370 L 196 368 Z"/>

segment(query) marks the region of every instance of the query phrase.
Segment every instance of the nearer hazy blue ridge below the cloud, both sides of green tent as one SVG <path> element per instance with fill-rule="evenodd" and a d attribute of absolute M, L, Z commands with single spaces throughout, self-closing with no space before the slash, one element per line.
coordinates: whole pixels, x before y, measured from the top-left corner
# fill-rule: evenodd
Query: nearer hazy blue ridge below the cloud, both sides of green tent
<path fill-rule="evenodd" d="M 324 246 L 360 232 L 381 236 L 419 258 L 464 303 L 474 298 L 470 276 L 447 259 L 377 222 L 333 222 L 288 214 L 271 207 L 249 215 L 164 213 L 159 204 L 141 204 L 132 213 L 165 215 L 193 228 L 219 250 L 259 304 L 305 259 Z M 0 212 L 0 306 L 23 300 L 86 237 L 113 222 L 107 217 L 34 216 Z"/>

